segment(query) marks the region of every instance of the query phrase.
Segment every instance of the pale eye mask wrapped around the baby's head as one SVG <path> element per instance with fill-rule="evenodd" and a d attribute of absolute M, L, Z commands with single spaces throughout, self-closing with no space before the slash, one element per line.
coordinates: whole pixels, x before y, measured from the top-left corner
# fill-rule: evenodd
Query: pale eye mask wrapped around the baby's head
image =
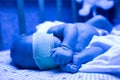
<path fill-rule="evenodd" d="M 33 59 L 40 69 L 51 69 L 57 67 L 50 57 L 51 49 L 54 48 L 53 34 L 33 34 Z"/>

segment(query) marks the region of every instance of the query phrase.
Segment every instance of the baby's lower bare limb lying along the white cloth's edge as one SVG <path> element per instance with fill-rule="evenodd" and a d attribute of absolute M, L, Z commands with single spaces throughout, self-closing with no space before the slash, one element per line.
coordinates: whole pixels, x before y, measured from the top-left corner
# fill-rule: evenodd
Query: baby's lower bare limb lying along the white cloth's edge
<path fill-rule="evenodd" d="M 111 46 L 102 42 L 94 42 L 90 47 L 81 51 L 78 56 L 81 59 L 81 64 L 93 60 L 95 57 L 105 53 Z"/>

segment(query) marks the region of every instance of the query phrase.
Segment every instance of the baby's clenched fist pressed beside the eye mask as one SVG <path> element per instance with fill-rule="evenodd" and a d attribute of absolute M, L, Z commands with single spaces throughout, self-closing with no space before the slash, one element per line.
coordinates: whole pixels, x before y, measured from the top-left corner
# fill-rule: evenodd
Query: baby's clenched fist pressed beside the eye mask
<path fill-rule="evenodd" d="M 51 51 L 51 57 L 58 65 L 67 64 L 72 60 L 73 51 L 67 47 L 54 48 Z"/>

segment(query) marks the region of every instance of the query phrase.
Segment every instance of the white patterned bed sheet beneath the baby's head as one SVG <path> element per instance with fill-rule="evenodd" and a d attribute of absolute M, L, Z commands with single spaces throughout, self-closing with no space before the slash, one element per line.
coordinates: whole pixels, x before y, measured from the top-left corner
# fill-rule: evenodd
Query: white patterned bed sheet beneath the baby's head
<path fill-rule="evenodd" d="M 119 75 L 105 73 L 65 73 L 59 69 L 40 71 L 18 69 L 11 64 L 10 51 L 0 52 L 0 80 L 120 80 Z"/>

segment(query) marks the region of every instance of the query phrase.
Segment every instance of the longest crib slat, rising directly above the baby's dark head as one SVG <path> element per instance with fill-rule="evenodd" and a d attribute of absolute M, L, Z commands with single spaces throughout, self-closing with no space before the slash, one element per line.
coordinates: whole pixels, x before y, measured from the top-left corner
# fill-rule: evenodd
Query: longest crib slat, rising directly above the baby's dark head
<path fill-rule="evenodd" d="M 24 0 L 17 0 L 17 6 L 18 6 L 18 19 L 19 19 L 20 34 L 25 34 L 26 26 L 25 26 L 25 15 L 24 15 Z"/>

